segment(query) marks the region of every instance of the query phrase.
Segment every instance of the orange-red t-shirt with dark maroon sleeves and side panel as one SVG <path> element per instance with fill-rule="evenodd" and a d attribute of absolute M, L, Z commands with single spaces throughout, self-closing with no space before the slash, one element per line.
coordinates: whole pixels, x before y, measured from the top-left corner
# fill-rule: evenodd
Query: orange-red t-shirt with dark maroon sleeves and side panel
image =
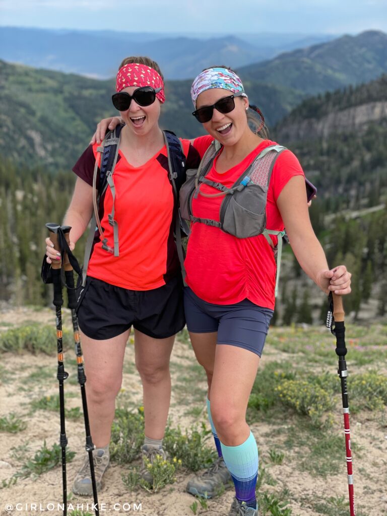
<path fill-rule="evenodd" d="M 189 140 L 181 140 L 187 168 L 200 160 Z M 92 185 L 98 144 L 86 149 L 74 172 Z M 98 156 L 97 156 L 98 154 Z M 169 181 L 167 149 L 164 146 L 147 163 L 133 167 L 119 151 L 113 174 L 116 189 L 115 220 L 118 222 L 119 256 L 102 249 L 95 240 L 87 275 L 112 285 L 145 291 L 165 285 L 180 269 L 173 240 L 173 192 Z M 114 247 L 113 228 L 108 223 L 112 208 L 108 187 L 102 199 L 100 220 L 107 244 Z"/>

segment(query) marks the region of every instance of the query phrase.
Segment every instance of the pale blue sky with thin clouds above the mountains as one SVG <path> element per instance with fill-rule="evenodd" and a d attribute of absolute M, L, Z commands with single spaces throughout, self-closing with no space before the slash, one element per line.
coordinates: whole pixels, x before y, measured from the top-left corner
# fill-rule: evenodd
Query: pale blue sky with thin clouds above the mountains
<path fill-rule="evenodd" d="M 0 0 L 0 25 L 157 33 L 387 32 L 387 0 Z"/>

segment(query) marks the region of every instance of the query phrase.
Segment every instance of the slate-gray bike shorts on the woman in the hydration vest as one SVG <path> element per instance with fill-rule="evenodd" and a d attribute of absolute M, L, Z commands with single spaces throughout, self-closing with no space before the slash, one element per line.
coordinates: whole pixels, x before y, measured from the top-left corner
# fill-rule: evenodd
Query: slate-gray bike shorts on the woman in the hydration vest
<path fill-rule="evenodd" d="M 273 310 L 249 299 L 234 304 L 207 303 L 184 287 L 184 311 L 188 331 L 218 332 L 217 344 L 245 348 L 261 357 Z"/>

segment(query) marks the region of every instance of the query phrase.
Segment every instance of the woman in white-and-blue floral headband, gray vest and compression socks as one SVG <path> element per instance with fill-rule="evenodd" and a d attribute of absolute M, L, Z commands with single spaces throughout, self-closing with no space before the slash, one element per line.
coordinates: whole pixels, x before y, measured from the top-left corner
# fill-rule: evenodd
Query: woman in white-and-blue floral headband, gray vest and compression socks
<path fill-rule="evenodd" d="M 250 129 L 253 106 L 235 72 L 204 70 L 191 97 L 193 116 L 208 135 L 193 142 L 203 173 L 181 191 L 188 203 L 181 209 L 191 221 L 184 305 L 192 347 L 207 374 L 219 458 L 187 490 L 212 497 L 232 479 L 229 516 L 257 516 L 258 451 L 246 410 L 275 306 L 284 227 L 301 267 L 323 292 L 349 294 L 351 275 L 344 265 L 329 269 L 310 223 L 301 165 L 267 138 L 263 117 L 256 132 Z"/>

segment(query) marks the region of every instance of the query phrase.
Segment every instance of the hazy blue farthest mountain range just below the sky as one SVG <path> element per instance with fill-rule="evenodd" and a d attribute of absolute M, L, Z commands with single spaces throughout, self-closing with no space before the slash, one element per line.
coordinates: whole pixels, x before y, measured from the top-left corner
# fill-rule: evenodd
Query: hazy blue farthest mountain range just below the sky
<path fill-rule="evenodd" d="M 332 39 L 330 35 L 198 36 L 0 27 L 0 59 L 95 78 L 115 75 L 127 55 L 149 55 L 167 79 L 195 76 L 208 63 L 240 67 Z"/>

